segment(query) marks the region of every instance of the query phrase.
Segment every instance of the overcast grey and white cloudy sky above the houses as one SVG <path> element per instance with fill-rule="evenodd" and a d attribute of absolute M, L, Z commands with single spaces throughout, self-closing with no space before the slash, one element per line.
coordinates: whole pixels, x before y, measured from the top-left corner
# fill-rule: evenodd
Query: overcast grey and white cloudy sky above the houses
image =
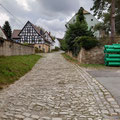
<path fill-rule="evenodd" d="M 0 0 L 16 20 L 0 6 L 0 26 L 8 20 L 12 29 L 22 29 L 29 20 L 50 31 L 54 36 L 62 38 L 65 33 L 65 23 L 82 6 L 90 12 L 92 0 Z"/>

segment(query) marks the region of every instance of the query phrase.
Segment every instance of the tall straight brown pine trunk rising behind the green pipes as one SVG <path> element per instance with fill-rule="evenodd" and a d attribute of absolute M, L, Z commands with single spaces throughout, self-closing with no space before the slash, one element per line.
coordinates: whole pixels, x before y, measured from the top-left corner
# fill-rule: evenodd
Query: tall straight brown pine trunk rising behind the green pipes
<path fill-rule="evenodd" d="M 111 44 L 115 43 L 115 0 L 111 4 Z"/>

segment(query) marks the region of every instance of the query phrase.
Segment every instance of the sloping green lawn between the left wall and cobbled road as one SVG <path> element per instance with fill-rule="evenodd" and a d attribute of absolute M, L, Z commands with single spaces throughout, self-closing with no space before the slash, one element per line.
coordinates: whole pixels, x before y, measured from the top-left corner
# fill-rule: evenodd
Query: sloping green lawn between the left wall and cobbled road
<path fill-rule="evenodd" d="M 25 75 L 40 58 L 40 55 L 0 57 L 0 89 Z"/>

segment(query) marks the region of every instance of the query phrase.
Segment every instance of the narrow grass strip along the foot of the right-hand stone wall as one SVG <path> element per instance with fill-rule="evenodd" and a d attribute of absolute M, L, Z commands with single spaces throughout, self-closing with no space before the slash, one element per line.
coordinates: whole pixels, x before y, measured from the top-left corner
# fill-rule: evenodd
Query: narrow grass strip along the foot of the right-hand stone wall
<path fill-rule="evenodd" d="M 62 53 L 62 55 L 63 55 L 63 57 L 64 57 L 66 60 L 68 60 L 69 62 L 78 64 L 78 65 L 81 66 L 81 67 L 85 67 L 85 68 L 96 68 L 96 69 L 106 68 L 106 66 L 103 65 L 103 64 L 80 64 L 78 60 L 70 57 L 70 56 L 67 55 L 66 53 Z"/>

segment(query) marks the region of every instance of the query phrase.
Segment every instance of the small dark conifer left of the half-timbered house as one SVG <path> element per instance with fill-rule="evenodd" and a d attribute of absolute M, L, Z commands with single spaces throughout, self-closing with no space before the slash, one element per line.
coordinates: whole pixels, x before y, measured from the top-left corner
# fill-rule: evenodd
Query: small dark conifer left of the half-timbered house
<path fill-rule="evenodd" d="M 3 31 L 4 31 L 5 35 L 7 36 L 7 38 L 11 39 L 12 30 L 11 30 L 11 26 L 8 21 L 5 21 L 5 24 L 3 25 Z"/>

